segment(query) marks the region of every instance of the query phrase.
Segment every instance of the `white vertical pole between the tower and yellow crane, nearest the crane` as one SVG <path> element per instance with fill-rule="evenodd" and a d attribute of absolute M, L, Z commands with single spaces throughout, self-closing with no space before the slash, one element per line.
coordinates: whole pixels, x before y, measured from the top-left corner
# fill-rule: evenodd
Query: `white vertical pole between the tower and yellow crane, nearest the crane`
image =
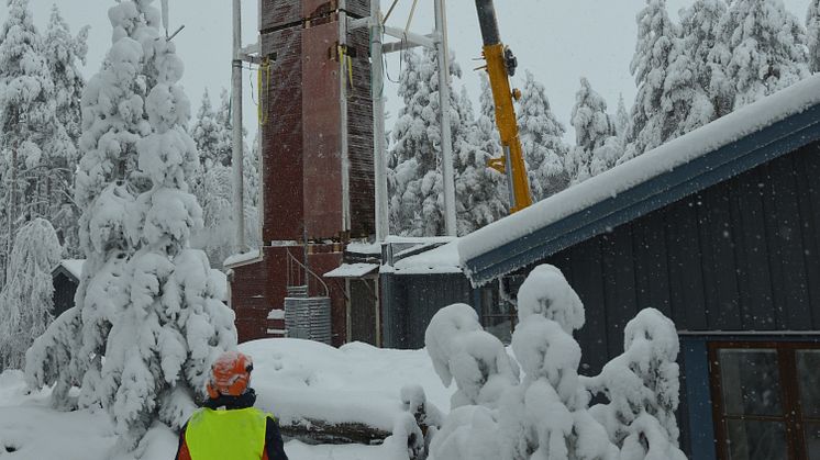
<path fill-rule="evenodd" d="M 444 0 L 435 0 L 435 30 L 440 40 L 439 98 L 441 100 L 442 178 L 444 180 L 444 228 L 448 236 L 457 236 L 455 216 L 455 175 L 453 172 L 453 139 L 450 127 L 450 51 L 447 45 L 447 16 Z"/>

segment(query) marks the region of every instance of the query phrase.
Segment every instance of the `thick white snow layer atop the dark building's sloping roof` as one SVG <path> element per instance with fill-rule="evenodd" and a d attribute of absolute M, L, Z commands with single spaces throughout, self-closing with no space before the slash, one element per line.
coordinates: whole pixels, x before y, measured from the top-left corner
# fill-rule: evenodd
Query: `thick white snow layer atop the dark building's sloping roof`
<path fill-rule="evenodd" d="M 818 104 L 820 76 L 815 76 L 461 238 L 461 265 L 472 277 L 469 260 Z"/>

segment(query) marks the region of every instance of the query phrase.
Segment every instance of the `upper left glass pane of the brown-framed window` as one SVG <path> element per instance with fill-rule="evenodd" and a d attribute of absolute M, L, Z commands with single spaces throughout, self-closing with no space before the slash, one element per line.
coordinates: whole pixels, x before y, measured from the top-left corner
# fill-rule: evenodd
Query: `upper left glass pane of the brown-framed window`
<path fill-rule="evenodd" d="M 777 351 L 722 349 L 720 384 L 728 415 L 783 415 Z"/>

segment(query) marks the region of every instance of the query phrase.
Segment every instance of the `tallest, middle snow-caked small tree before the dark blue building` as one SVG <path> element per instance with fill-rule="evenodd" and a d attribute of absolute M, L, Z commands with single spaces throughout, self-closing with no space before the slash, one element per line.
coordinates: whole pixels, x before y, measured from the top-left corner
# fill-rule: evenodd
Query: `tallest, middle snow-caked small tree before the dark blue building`
<path fill-rule="evenodd" d="M 585 322 L 580 299 L 561 270 L 544 265 L 521 285 L 518 307 L 512 349 L 525 377 L 501 402 L 502 458 L 618 459 L 577 373 L 581 352 L 572 334 Z"/>

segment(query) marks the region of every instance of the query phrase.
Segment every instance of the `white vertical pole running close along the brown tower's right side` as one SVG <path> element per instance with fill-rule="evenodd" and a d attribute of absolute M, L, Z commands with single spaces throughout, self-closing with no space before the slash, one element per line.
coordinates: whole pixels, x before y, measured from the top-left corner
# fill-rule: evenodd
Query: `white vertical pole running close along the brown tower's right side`
<path fill-rule="evenodd" d="M 373 72 L 373 166 L 376 186 L 376 240 L 390 234 L 387 191 L 387 141 L 385 139 L 385 60 L 381 53 L 384 23 L 379 1 L 370 2 L 370 71 Z"/>

